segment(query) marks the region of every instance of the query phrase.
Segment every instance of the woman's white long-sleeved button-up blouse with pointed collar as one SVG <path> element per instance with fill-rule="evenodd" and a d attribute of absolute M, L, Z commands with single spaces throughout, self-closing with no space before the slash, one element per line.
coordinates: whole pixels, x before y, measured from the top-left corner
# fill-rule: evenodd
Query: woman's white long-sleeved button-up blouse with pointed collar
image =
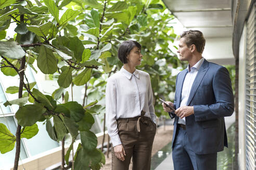
<path fill-rule="evenodd" d="M 108 78 L 106 87 L 107 127 L 113 147 L 121 144 L 116 120 L 140 116 L 142 110 L 156 123 L 149 74 L 137 69 L 132 74 L 122 67 Z"/>

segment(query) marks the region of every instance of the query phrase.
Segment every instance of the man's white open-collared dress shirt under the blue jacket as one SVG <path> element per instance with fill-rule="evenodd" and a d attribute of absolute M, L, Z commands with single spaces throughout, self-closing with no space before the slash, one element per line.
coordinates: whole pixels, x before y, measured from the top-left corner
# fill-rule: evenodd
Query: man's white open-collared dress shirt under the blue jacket
<path fill-rule="evenodd" d="M 198 70 L 200 66 L 203 63 L 204 58 L 200 59 L 193 67 L 190 68 L 189 64 L 187 66 L 187 74 L 183 82 L 183 87 L 182 87 L 182 98 L 181 98 L 181 105 L 182 106 L 187 106 L 187 100 L 188 96 L 191 90 L 191 87 L 194 83 L 194 80 L 197 76 Z M 178 123 L 179 124 L 186 124 L 185 117 L 183 119 L 178 118 Z"/>

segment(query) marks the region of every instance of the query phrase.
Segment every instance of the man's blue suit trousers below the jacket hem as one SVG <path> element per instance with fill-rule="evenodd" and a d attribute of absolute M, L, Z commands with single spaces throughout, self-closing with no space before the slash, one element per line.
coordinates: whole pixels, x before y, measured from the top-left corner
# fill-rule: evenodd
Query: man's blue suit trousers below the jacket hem
<path fill-rule="evenodd" d="M 172 159 L 175 170 L 216 170 L 217 153 L 196 154 L 191 150 L 186 130 L 177 127 Z"/>

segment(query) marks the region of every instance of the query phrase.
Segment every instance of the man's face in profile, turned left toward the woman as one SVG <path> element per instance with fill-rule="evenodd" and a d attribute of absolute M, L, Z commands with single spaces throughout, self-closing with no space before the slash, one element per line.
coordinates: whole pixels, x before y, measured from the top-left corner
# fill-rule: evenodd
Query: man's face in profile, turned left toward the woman
<path fill-rule="evenodd" d="M 192 53 L 190 51 L 190 47 L 187 47 L 184 37 L 180 39 L 180 43 L 178 43 L 177 53 L 180 55 L 181 61 L 188 61 L 191 58 Z"/>

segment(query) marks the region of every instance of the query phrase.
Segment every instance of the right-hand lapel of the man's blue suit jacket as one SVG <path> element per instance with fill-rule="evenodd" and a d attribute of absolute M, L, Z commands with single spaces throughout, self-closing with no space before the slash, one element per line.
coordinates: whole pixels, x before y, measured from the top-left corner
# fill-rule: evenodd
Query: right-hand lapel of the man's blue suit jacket
<path fill-rule="evenodd" d="M 197 76 L 196 76 L 196 78 L 193 82 L 193 85 L 191 87 L 191 90 L 190 90 L 190 93 L 189 93 L 189 96 L 188 96 L 188 100 L 187 100 L 187 106 L 190 105 L 191 100 L 193 99 L 194 95 L 196 94 L 196 91 L 197 91 L 204 75 L 206 75 L 207 70 L 208 70 L 208 61 L 206 61 L 204 59 L 201 67 L 198 70 L 198 73 L 197 73 Z"/>

